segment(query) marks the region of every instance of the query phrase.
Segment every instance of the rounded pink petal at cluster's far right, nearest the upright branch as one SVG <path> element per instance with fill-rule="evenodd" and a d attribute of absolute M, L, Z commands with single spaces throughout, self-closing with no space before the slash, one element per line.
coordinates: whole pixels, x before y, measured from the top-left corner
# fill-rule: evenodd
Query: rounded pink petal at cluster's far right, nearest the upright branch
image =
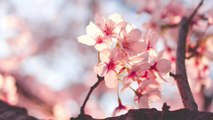
<path fill-rule="evenodd" d="M 160 59 L 156 64 L 156 68 L 158 72 L 168 73 L 172 68 L 171 62 L 167 59 Z"/>

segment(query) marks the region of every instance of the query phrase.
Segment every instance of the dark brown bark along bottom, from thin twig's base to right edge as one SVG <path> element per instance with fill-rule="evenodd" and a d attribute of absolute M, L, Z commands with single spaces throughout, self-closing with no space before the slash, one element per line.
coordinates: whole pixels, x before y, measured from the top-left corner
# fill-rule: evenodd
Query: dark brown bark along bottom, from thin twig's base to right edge
<path fill-rule="evenodd" d="M 94 119 L 89 115 L 79 115 L 70 120 L 213 120 L 213 113 L 189 109 L 158 111 L 153 108 L 130 110 L 125 115 L 105 119 Z"/>

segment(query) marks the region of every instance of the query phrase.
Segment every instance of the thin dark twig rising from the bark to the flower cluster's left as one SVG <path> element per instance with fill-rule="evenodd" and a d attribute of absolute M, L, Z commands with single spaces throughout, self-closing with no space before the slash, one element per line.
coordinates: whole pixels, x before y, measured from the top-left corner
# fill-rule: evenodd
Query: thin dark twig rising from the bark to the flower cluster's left
<path fill-rule="evenodd" d="M 97 78 L 98 78 L 98 81 L 90 88 L 85 100 L 84 100 L 84 103 L 82 104 L 81 106 L 81 113 L 80 114 L 84 114 L 84 108 L 85 108 L 85 105 L 87 103 L 87 101 L 89 100 L 89 97 L 90 95 L 92 94 L 93 90 L 98 87 L 98 85 L 104 80 L 104 77 L 100 77 L 97 75 Z"/>

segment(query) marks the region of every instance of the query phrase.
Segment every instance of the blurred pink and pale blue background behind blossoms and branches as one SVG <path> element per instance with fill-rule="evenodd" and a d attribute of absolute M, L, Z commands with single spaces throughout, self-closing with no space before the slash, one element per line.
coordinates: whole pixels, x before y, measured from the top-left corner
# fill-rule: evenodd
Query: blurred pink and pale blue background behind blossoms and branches
<path fill-rule="evenodd" d="M 78 43 L 77 37 L 85 34 L 86 25 L 94 21 L 96 14 L 108 17 L 119 13 L 129 23 L 145 29 L 142 26 L 153 19 L 161 22 L 157 16 L 169 10 L 169 4 L 176 6 L 174 12 L 180 14 L 176 19 L 179 21 L 180 16 L 189 15 L 198 2 L 0 0 L 1 99 L 27 108 L 29 114 L 37 118 L 66 120 L 77 116 L 86 93 L 97 80 L 92 71 L 97 63 L 97 52 L 93 47 Z M 212 8 L 213 2 L 205 0 L 199 12 L 208 12 L 212 17 Z M 212 27 L 208 34 L 212 35 Z M 175 41 L 171 36 L 169 39 Z M 208 65 L 210 82 L 206 91 L 211 98 L 212 62 Z M 190 71 L 196 74 L 193 69 Z M 152 103 L 151 107 L 160 110 L 163 102 L 167 102 L 172 110 L 183 108 L 175 82 L 171 78 L 169 81 L 162 83 L 162 100 Z M 203 110 L 203 96 L 193 93 L 199 109 Z M 123 104 L 135 105 L 133 96 L 130 90 L 121 93 Z M 109 117 L 117 105 L 116 90 L 101 84 L 89 99 L 86 112 L 96 118 Z M 208 111 L 213 112 L 212 105 Z"/>

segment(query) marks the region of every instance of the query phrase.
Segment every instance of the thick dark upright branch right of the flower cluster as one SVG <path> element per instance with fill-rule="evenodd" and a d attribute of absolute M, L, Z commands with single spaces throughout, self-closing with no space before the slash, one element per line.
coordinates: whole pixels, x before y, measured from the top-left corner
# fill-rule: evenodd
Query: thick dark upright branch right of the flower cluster
<path fill-rule="evenodd" d="M 203 0 L 199 3 L 196 9 L 192 12 L 189 18 L 183 17 L 180 22 L 179 34 L 178 34 L 178 47 L 177 47 L 177 60 L 176 60 L 176 74 L 181 77 L 176 78 L 177 86 L 182 98 L 182 102 L 185 108 L 191 110 L 197 110 L 197 104 L 192 95 L 188 78 L 186 74 L 185 58 L 186 58 L 186 39 L 189 31 L 189 26 L 192 19 L 197 13 L 200 6 L 203 4 Z"/>

